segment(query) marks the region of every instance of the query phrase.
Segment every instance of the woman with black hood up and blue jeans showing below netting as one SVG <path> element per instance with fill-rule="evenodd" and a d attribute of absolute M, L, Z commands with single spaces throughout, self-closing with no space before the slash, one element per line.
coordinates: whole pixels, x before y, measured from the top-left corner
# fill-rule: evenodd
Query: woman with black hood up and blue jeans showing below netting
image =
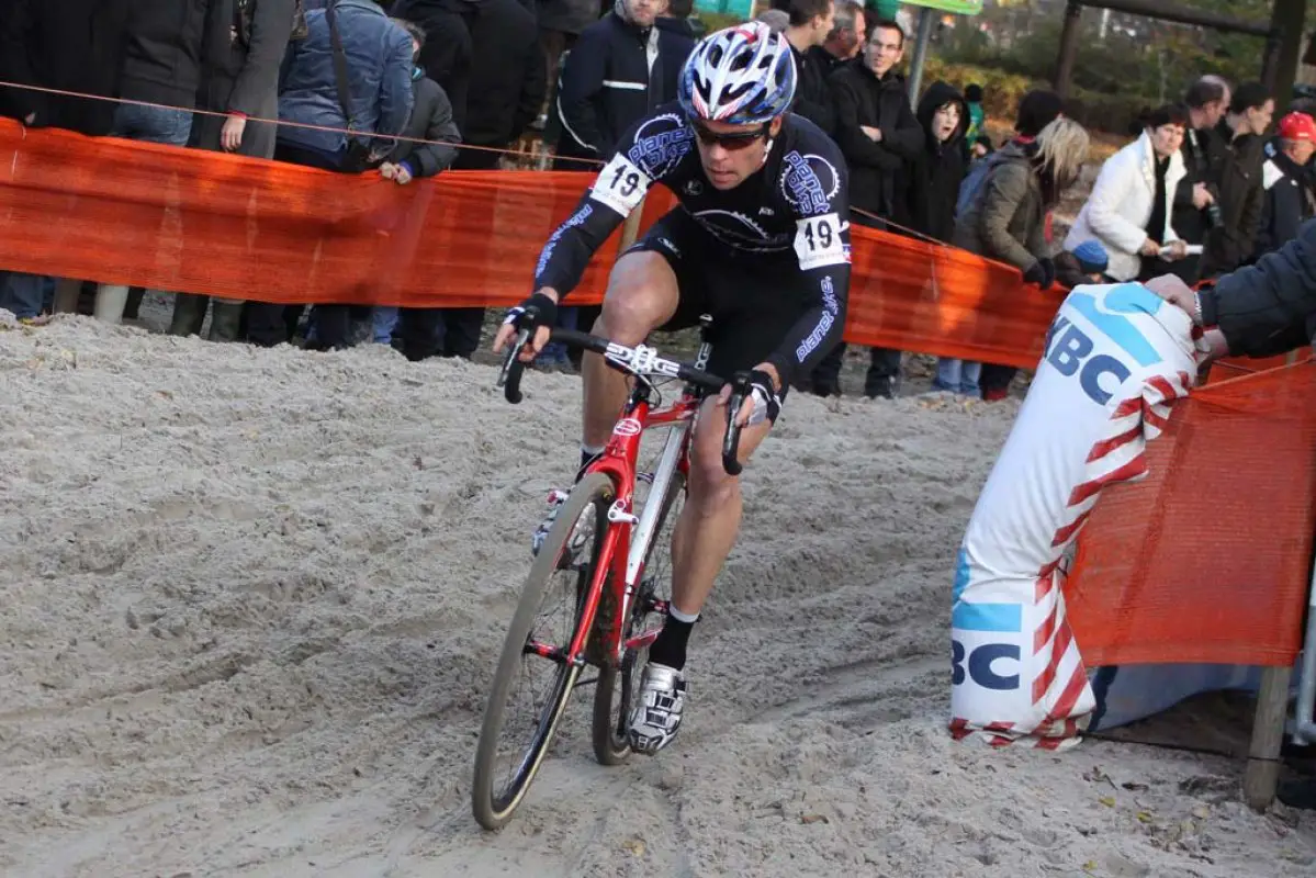
<path fill-rule="evenodd" d="M 955 200 L 965 179 L 963 138 L 969 129 L 969 104 L 954 86 L 936 82 L 919 101 L 919 124 L 924 132 L 923 153 L 912 167 L 909 213 L 913 228 L 944 244 L 955 232 Z M 937 361 L 933 390 L 978 396 L 978 365 L 963 369 L 959 359 Z"/>

